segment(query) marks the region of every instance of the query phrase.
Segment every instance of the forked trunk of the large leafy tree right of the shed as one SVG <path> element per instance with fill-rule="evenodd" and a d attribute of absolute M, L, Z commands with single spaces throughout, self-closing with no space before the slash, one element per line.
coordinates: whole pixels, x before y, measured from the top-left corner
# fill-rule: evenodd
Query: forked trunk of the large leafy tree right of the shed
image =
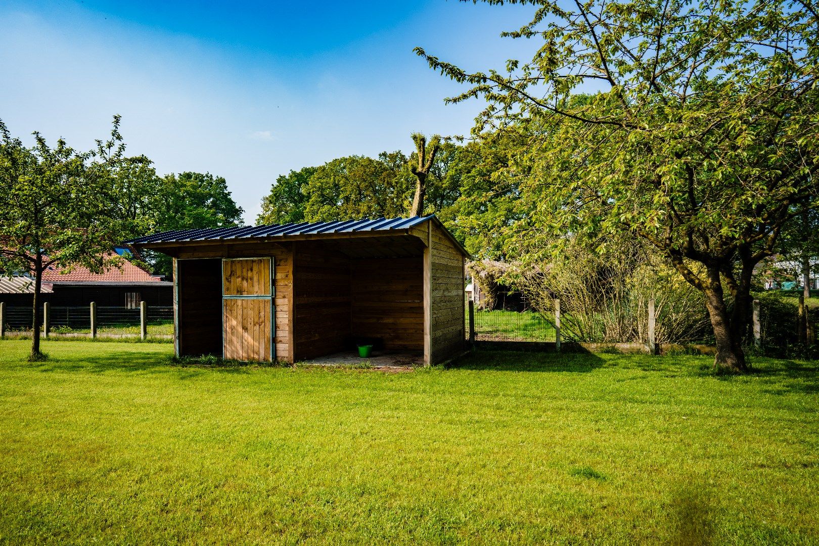
<path fill-rule="evenodd" d="M 743 295 L 737 296 L 734 313 L 729 316 L 719 272 L 709 271 L 708 277 L 710 282 L 704 292 L 705 307 L 708 309 L 714 339 L 717 341 L 714 369 L 718 372 L 748 372 L 748 364 L 742 350 L 742 331 L 744 323 L 747 322 L 747 318 L 743 319 L 743 309 L 747 307 L 746 298 Z"/>

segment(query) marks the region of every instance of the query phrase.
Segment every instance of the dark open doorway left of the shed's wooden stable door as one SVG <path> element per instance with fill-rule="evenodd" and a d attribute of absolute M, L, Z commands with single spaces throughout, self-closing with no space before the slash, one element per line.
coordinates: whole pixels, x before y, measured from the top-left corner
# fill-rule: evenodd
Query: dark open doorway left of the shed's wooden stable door
<path fill-rule="evenodd" d="M 179 356 L 222 356 L 222 260 L 177 260 Z"/>

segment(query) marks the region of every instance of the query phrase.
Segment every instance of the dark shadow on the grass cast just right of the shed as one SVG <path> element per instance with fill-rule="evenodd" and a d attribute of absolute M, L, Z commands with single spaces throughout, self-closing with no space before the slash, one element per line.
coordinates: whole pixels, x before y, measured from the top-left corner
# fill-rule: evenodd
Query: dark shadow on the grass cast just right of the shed
<path fill-rule="evenodd" d="M 518 351 L 475 351 L 450 365 L 462 370 L 498 372 L 591 372 L 605 361 L 592 353 L 523 353 Z"/>

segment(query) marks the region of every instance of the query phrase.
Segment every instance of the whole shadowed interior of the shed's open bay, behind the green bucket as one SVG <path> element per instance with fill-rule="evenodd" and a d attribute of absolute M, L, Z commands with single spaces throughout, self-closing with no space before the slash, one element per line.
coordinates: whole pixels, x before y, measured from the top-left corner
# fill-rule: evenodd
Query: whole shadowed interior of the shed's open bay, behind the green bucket
<path fill-rule="evenodd" d="M 297 359 L 351 350 L 361 338 L 378 338 L 385 350 L 423 353 L 423 244 L 418 237 L 386 242 L 296 243 Z"/>

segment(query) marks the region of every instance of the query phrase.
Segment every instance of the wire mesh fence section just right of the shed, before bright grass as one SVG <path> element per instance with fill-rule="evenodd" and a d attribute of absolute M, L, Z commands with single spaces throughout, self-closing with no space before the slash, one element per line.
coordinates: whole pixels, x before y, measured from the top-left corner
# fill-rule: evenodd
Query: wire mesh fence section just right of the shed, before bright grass
<path fill-rule="evenodd" d="M 469 336 L 469 312 L 464 313 Z M 554 326 L 534 311 L 475 309 L 476 341 L 554 341 Z"/>

